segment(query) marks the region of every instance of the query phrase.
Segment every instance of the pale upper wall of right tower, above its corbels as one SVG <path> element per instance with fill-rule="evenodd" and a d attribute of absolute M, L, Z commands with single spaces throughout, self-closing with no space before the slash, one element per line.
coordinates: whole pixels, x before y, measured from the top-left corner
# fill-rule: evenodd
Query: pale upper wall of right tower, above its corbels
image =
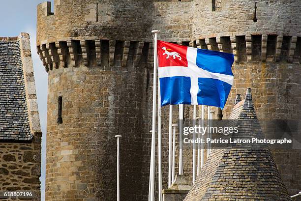
<path fill-rule="evenodd" d="M 212 0 L 194 0 L 195 39 L 256 33 L 300 36 L 301 5 L 296 0 L 219 1 L 220 8 L 212 11 Z"/>

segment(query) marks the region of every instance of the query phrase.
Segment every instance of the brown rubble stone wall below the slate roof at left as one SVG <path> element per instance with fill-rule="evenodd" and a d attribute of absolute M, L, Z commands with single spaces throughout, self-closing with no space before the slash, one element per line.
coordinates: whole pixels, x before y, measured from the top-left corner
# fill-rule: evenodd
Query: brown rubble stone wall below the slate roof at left
<path fill-rule="evenodd" d="M 30 144 L 0 143 L 0 191 L 30 191 L 40 201 L 41 138 Z M 0 199 L 12 201 L 12 199 Z M 22 199 L 20 199 L 22 200 Z M 26 199 L 24 199 L 26 200 Z"/>

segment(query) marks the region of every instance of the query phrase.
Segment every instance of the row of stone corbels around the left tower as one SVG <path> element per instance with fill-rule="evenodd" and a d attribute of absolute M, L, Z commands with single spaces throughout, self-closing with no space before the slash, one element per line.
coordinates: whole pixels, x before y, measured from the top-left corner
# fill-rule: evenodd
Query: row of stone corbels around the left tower
<path fill-rule="evenodd" d="M 45 60 L 43 63 L 45 66 L 52 64 L 55 68 L 67 67 L 69 62 L 71 66 L 78 67 L 82 61 L 87 67 L 98 66 L 109 69 L 106 64 L 108 62 L 105 61 L 106 57 L 109 61 L 109 56 L 111 67 L 136 67 L 145 44 L 137 41 L 69 40 L 46 43 L 39 48 L 38 54 L 41 60 Z M 111 45 L 110 52 L 109 45 Z M 48 54 L 43 51 L 43 48 Z"/>

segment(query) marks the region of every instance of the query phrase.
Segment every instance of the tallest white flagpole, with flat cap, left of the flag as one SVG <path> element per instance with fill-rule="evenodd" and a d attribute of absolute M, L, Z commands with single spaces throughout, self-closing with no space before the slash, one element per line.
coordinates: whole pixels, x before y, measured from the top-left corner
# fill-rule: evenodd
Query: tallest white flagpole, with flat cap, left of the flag
<path fill-rule="evenodd" d="M 151 164 L 150 164 L 150 189 L 149 201 L 154 201 L 154 161 L 155 161 L 155 131 L 156 131 L 156 89 L 157 89 L 157 40 L 159 30 L 154 33 L 153 45 L 153 86 L 152 86 L 152 129 L 151 129 Z"/>

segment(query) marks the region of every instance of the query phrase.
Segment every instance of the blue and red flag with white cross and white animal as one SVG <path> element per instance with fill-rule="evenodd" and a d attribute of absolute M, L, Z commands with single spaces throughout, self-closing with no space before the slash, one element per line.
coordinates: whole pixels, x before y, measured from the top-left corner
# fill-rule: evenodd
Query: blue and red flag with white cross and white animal
<path fill-rule="evenodd" d="M 234 76 L 234 55 L 158 40 L 161 106 L 208 105 L 224 108 Z"/>

